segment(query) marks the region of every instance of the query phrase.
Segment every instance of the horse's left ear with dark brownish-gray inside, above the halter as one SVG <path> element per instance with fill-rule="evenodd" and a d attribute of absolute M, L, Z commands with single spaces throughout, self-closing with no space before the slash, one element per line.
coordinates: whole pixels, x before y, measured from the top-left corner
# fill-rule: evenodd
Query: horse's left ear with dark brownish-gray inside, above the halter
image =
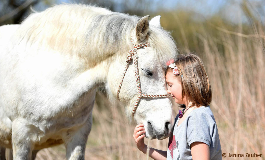
<path fill-rule="evenodd" d="M 141 18 L 135 27 L 137 41 L 143 41 L 149 31 L 149 15 Z"/>

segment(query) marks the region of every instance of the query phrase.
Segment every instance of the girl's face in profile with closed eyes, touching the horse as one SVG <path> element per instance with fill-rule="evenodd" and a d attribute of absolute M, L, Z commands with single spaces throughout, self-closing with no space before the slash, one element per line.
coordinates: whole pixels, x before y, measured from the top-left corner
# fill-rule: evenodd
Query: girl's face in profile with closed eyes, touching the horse
<path fill-rule="evenodd" d="M 183 100 L 182 97 L 182 88 L 181 88 L 181 82 L 179 81 L 178 77 L 174 75 L 173 72 L 169 71 L 166 74 L 166 82 L 167 82 L 167 93 L 171 94 L 173 99 L 178 104 L 184 104 L 185 103 L 185 97 Z"/>

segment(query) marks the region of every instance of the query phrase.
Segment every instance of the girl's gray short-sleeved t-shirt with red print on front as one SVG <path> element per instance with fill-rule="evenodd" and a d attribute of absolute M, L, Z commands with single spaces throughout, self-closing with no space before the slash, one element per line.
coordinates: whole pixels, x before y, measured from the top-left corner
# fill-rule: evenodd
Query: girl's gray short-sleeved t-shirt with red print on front
<path fill-rule="evenodd" d="M 192 160 L 193 142 L 204 142 L 210 147 L 210 160 L 222 159 L 218 129 L 210 106 L 196 108 L 179 126 L 178 122 L 179 115 L 175 118 L 175 127 L 169 137 L 167 160 Z"/>

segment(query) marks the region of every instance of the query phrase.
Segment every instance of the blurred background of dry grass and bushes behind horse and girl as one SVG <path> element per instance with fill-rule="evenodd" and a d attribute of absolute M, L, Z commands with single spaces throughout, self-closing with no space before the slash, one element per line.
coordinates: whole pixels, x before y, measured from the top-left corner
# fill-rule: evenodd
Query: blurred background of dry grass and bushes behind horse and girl
<path fill-rule="evenodd" d="M 20 0 L 18 5 L 24 2 Z M 188 3 L 185 8 L 176 6 L 176 9 L 166 9 L 159 7 L 166 3 L 164 1 L 76 2 L 97 4 L 131 15 L 150 15 L 151 18 L 161 15 L 161 26 L 171 31 L 180 52 L 196 52 L 204 61 L 213 88 L 210 106 L 217 122 L 222 152 L 265 154 L 265 1 L 226 1 L 228 5 L 220 7 L 210 16 L 194 12 L 189 9 Z M 206 3 L 205 0 L 202 2 Z M 58 2 L 36 0 L 32 5 L 38 11 L 53 3 Z M 1 8 L 3 4 L 5 11 L 2 10 L 3 6 Z M 19 12 L 21 16 L 16 15 L 19 20 L 14 18 L 1 22 L 1 16 L 16 8 L 9 8 L 8 4 L 0 1 L 1 24 L 20 23 L 29 13 L 27 7 Z M 232 4 L 235 9 L 229 9 Z M 86 158 L 144 159 L 145 155 L 136 148 L 132 137 L 135 126 L 128 125 L 123 106 L 109 106 L 101 88 L 96 95 Z M 175 103 L 173 107 L 176 115 L 179 108 Z M 147 142 L 151 147 L 166 150 L 168 139 Z M 65 149 L 59 146 L 38 153 L 38 159 L 54 157 L 65 159 Z"/>

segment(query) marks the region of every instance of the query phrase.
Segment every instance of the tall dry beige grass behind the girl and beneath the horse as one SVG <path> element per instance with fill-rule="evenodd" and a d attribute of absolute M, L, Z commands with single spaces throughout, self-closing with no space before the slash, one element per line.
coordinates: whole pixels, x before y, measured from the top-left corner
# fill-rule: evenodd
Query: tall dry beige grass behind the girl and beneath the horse
<path fill-rule="evenodd" d="M 264 160 L 265 34 L 259 20 L 249 18 L 252 21 L 245 29 L 242 27 L 245 24 L 240 22 L 232 30 L 222 23 L 218 26 L 211 24 L 211 27 L 199 23 L 191 26 L 192 37 L 186 36 L 180 22 L 175 24 L 180 27 L 180 36 L 174 38 L 176 42 L 184 42 L 180 48 L 182 50 L 189 50 L 189 43 L 194 44 L 196 52 L 204 61 L 213 90 L 210 108 L 217 122 L 222 153 L 243 153 L 244 156 L 245 153 L 259 153 L 263 155 L 262 158 L 251 159 Z M 171 16 L 169 21 L 179 21 L 179 18 Z M 162 23 L 162 26 L 167 25 Z M 177 104 L 173 104 L 173 108 L 176 115 L 179 110 Z M 117 104 L 109 107 L 105 93 L 99 90 L 86 159 L 146 159 L 136 148 L 134 127 L 135 124 L 129 124 L 125 118 L 123 106 Z M 147 139 L 145 142 L 148 142 Z M 153 148 L 167 150 L 168 138 L 148 143 Z M 43 149 L 37 154 L 37 159 L 65 159 L 65 148 Z"/>

